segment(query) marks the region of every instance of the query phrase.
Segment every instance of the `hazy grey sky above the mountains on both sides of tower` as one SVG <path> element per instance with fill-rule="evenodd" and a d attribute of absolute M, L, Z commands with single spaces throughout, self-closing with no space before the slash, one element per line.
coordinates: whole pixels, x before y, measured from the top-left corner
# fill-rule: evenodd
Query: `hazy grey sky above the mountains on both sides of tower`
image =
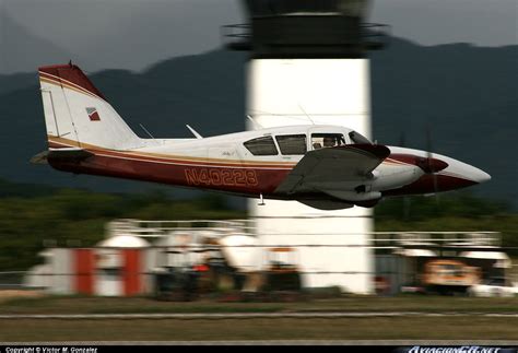
<path fill-rule="evenodd" d="M 2 14 L 94 70 L 207 51 L 222 25 L 245 22 L 239 0 L 0 0 Z M 517 17 L 517 0 L 378 0 L 368 20 L 424 45 L 502 46 L 518 44 Z"/>

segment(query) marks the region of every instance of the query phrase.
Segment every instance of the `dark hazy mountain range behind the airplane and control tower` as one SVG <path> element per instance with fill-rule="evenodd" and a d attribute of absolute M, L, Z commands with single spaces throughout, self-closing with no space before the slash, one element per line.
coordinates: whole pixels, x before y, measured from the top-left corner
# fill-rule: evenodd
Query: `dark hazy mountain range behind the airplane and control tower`
<path fill-rule="evenodd" d="M 405 146 L 417 149 L 431 145 L 434 152 L 473 164 L 493 176 L 473 191 L 518 207 L 518 46 L 421 46 L 392 37 L 386 50 L 369 58 L 374 139 L 395 145 L 404 140 Z M 245 128 L 247 60 L 247 54 L 216 49 L 161 61 L 141 72 L 105 70 L 91 79 L 142 137 L 148 136 L 141 123 L 155 138 L 188 137 L 185 123 L 212 136 Z M 64 56 L 58 60 L 67 61 Z M 31 156 L 46 148 L 36 67 L 33 73 L 0 75 L 0 178 L 98 191 L 160 188 L 192 195 L 31 165 Z"/>

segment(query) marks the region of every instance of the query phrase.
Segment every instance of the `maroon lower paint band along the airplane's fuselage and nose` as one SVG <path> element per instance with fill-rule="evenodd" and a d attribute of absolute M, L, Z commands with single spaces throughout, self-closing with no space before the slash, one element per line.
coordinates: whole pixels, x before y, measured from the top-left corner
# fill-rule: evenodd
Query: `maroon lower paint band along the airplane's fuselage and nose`
<path fill-rule="evenodd" d="M 57 141 L 49 141 L 52 148 L 71 148 Z M 179 156 L 150 156 L 139 152 L 86 149 L 94 156 L 80 163 L 49 161 L 60 170 L 92 174 L 143 181 L 153 181 L 179 187 L 204 188 L 245 196 L 281 197 L 274 195 L 276 187 L 290 174 L 293 165 L 247 163 L 246 161 L 183 160 Z M 396 165 L 409 165 L 412 155 L 391 155 L 388 162 Z M 186 156 L 186 158 L 189 158 Z M 389 160 L 389 158 L 387 158 Z M 476 184 L 455 175 L 437 174 L 438 191 L 447 191 Z M 424 175 L 416 181 L 402 188 L 382 191 L 384 196 L 435 192 L 435 183 L 431 175 Z"/>

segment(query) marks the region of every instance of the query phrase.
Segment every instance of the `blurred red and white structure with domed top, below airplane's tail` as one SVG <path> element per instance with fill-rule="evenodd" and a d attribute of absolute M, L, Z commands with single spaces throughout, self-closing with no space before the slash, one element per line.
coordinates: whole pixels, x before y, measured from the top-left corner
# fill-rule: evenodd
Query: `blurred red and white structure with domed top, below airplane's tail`
<path fill-rule="evenodd" d="M 149 243 L 122 235 L 109 237 L 95 248 L 51 248 L 44 263 L 30 270 L 27 287 L 51 294 L 128 296 L 149 293 Z"/>

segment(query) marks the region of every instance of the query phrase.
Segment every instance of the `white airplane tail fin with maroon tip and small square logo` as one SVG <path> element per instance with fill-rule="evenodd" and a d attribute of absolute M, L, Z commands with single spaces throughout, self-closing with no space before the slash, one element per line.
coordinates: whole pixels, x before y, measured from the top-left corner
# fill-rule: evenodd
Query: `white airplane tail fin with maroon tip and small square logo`
<path fill-rule="evenodd" d="M 141 139 L 76 66 L 39 68 L 49 148 L 127 150 Z"/>

